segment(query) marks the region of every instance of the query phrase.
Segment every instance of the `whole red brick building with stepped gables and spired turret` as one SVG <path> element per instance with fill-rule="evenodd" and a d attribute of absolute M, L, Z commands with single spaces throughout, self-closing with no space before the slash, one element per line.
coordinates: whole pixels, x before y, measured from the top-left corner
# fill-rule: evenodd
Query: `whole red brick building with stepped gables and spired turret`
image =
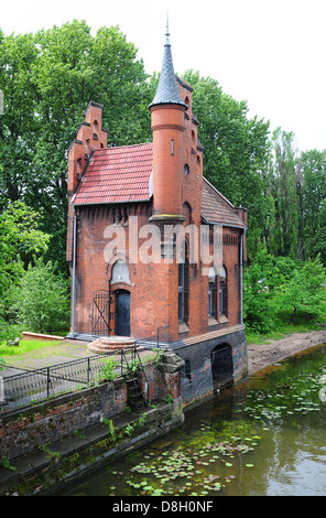
<path fill-rule="evenodd" d="M 68 154 L 69 336 L 159 333 L 186 361 L 185 400 L 200 397 L 203 379 L 211 389 L 247 368 L 247 212 L 203 176 L 192 93 L 174 74 L 167 34 L 149 106 L 153 141 L 108 148 L 91 101 Z"/>

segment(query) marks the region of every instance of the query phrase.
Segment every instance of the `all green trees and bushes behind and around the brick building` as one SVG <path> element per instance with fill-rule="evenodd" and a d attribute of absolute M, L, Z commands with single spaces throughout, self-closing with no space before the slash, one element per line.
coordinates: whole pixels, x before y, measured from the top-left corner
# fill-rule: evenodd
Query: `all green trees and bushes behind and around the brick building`
<path fill-rule="evenodd" d="M 152 140 L 148 105 L 157 79 L 148 77 L 118 26 L 93 35 L 85 21 L 73 20 L 36 34 L 0 31 L 0 341 L 22 325 L 68 326 L 67 149 L 89 100 L 104 105 L 109 145 Z M 320 317 L 315 258 L 326 265 L 326 151 L 300 154 L 293 132 L 278 128 L 270 137 L 269 122 L 249 118 L 247 102 L 216 79 L 193 71 L 184 79 L 194 88 L 205 176 L 249 211 L 249 330 Z M 44 262 L 33 267 L 35 255 Z"/>

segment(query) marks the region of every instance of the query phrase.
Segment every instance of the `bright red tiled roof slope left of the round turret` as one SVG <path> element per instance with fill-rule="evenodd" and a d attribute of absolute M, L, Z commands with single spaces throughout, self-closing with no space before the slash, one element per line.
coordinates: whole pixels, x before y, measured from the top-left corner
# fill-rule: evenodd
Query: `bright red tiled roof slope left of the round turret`
<path fill-rule="evenodd" d="M 152 142 L 95 151 L 73 198 L 74 205 L 150 199 Z"/>

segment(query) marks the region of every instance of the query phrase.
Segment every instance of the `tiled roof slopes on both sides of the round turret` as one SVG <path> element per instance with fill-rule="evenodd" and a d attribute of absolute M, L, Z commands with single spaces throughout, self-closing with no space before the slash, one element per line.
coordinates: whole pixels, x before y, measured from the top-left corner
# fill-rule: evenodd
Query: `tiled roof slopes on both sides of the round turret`
<path fill-rule="evenodd" d="M 74 205 L 149 201 L 153 168 L 152 142 L 95 151 Z M 229 203 L 206 179 L 203 181 L 202 215 L 207 223 L 246 227 Z"/>

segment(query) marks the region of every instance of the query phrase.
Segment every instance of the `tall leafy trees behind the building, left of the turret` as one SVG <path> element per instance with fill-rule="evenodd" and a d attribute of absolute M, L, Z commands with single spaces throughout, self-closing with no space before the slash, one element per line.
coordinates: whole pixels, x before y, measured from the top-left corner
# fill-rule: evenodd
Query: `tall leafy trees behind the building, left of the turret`
<path fill-rule="evenodd" d="M 65 263 L 67 149 L 89 100 L 104 104 L 109 144 L 151 138 L 152 90 L 137 48 L 118 28 L 96 36 L 85 21 L 0 37 L 0 211 L 10 201 L 43 207 L 52 236 L 46 258 Z"/>

